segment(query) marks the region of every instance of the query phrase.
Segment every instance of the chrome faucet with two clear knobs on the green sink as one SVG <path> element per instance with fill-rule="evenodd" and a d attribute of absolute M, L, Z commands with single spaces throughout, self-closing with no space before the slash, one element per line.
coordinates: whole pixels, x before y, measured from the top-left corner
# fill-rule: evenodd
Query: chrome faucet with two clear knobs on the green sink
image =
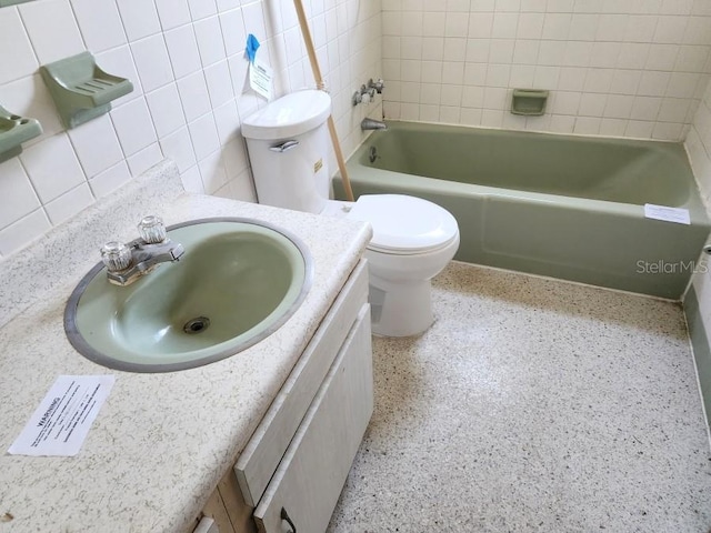
<path fill-rule="evenodd" d="M 160 217 L 144 217 L 138 230 L 141 237 L 127 244 L 110 241 L 101 248 L 101 261 L 110 283 L 129 285 L 160 263 L 178 261 L 186 252 L 182 244 L 168 238 Z"/>

